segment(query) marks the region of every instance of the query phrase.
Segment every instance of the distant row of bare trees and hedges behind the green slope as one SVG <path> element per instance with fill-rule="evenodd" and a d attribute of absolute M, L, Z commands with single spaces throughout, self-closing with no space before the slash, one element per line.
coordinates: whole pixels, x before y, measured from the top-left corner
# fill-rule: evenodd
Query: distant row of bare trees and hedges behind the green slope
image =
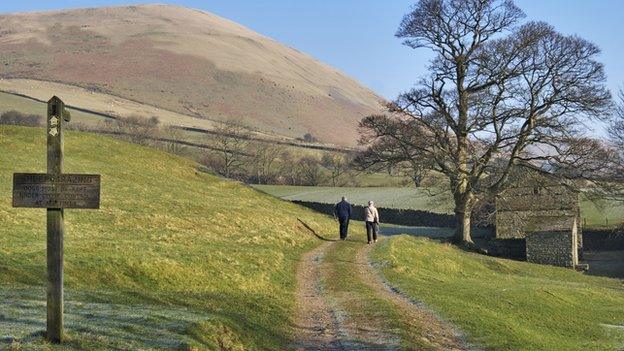
<path fill-rule="evenodd" d="M 41 127 L 41 115 L 7 111 L 0 114 L 0 124 Z M 131 115 L 85 125 L 72 121 L 69 130 L 103 133 L 139 145 L 194 158 L 209 170 L 227 178 L 257 184 L 287 185 L 357 185 L 352 157 L 325 151 L 294 152 L 285 145 L 255 141 L 250 128 L 239 121 L 221 123 L 205 140 L 202 151 L 190 152 L 180 129 L 160 123 L 156 116 Z M 308 133 L 309 134 L 309 133 Z M 316 142 L 310 135 L 302 140 Z"/>

